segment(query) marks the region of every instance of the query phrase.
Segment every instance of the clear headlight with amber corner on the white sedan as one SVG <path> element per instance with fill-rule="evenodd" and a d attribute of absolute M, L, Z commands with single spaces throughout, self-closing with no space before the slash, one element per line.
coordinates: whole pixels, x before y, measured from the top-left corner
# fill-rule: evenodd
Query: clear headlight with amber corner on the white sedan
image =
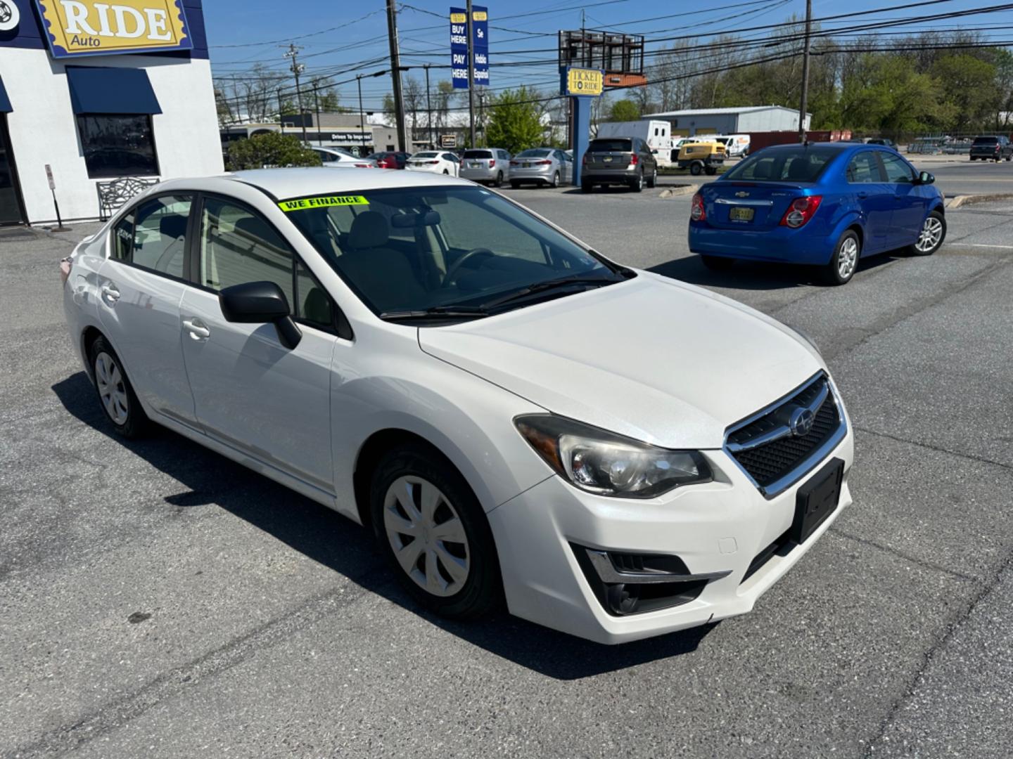
<path fill-rule="evenodd" d="M 518 431 L 557 474 L 590 493 L 653 498 L 712 479 L 695 450 L 669 450 L 551 414 L 519 416 Z"/>

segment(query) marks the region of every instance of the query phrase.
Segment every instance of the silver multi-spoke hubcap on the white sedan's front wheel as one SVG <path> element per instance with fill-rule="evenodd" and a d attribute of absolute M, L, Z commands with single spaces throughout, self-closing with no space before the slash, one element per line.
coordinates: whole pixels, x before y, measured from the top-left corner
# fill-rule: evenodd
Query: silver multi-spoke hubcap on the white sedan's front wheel
<path fill-rule="evenodd" d="M 383 520 L 394 558 L 412 582 L 442 598 L 461 590 L 470 567 L 468 536 L 436 485 L 420 477 L 397 478 L 384 497 Z"/>

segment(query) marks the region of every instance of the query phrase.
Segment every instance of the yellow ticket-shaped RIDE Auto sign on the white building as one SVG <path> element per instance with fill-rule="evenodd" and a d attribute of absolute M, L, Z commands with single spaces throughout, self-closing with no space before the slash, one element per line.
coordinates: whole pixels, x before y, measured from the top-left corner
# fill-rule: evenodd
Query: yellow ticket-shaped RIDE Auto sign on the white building
<path fill-rule="evenodd" d="M 192 50 L 181 0 L 35 0 L 53 58 Z"/>

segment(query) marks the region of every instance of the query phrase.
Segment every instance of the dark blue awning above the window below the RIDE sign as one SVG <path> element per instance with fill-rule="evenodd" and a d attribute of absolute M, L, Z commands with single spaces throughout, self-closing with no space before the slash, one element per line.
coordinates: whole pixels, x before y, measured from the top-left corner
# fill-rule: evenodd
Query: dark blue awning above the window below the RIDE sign
<path fill-rule="evenodd" d="M 144 69 L 68 66 L 67 83 L 75 113 L 161 113 Z"/>

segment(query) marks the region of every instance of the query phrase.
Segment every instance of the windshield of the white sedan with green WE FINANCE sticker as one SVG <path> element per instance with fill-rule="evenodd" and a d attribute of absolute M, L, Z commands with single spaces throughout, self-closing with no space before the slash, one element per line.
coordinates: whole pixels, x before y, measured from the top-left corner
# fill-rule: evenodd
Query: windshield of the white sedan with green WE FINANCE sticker
<path fill-rule="evenodd" d="M 363 302 L 389 318 L 517 308 L 530 303 L 526 293 L 547 292 L 546 282 L 589 286 L 630 275 L 479 187 L 342 192 L 281 206 Z M 504 298 L 509 306 L 498 303 Z"/>

